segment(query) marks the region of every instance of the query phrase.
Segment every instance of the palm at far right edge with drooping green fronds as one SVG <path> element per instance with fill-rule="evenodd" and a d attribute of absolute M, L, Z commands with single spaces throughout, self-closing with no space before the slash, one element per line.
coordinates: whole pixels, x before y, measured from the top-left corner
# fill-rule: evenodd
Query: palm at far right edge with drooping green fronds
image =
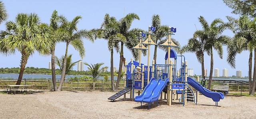
<path fill-rule="evenodd" d="M 255 19 L 254 19 L 255 20 Z M 249 50 L 249 95 L 254 95 L 255 89 L 255 65 L 252 81 L 252 52 L 255 54 L 255 21 L 250 21 L 248 16 L 241 16 L 238 20 L 232 20 L 234 24 L 238 26 L 237 30 L 234 30 L 235 36 L 231 42 L 228 43 L 228 57 L 227 61 L 231 67 L 235 68 L 236 54 L 240 54 L 242 51 Z M 254 55 L 254 64 L 256 56 Z M 253 82 L 253 83 L 252 83 Z"/>

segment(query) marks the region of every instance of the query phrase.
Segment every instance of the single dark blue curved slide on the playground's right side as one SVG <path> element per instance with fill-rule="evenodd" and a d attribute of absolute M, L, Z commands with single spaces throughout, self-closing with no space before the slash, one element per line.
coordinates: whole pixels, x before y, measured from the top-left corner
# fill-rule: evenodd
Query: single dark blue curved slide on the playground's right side
<path fill-rule="evenodd" d="M 220 101 L 220 99 L 224 99 L 224 94 L 221 92 L 213 92 L 209 91 L 205 87 L 203 87 L 201 84 L 199 84 L 197 81 L 192 79 L 191 77 L 188 77 L 188 84 L 194 87 L 196 90 L 198 90 L 200 93 L 202 93 L 204 96 L 212 98 L 213 101 Z"/>

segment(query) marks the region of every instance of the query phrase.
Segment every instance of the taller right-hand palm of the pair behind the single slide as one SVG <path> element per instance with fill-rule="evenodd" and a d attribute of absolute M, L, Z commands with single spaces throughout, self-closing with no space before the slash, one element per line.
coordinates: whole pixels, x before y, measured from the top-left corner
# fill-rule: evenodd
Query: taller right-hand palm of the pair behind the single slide
<path fill-rule="evenodd" d="M 226 35 L 222 35 L 222 32 L 224 32 L 224 30 L 226 29 L 232 29 L 232 24 L 224 23 L 220 18 L 214 19 L 210 25 L 204 19 L 203 16 L 200 16 L 198 20 L 202 25 L 204 34 L 207 35 L 206 53 L 211 56 L 210 76 L 209 76 L 209 83 L 208 83 L 208 89 L 210 89 L 211 82 L 212 82 L 212 73 L 213 73 L 213 50 L 216 50 L 218 53 L 218 56 L 222 59 L 222 56 L 223 56 L 222 46 L 226 45 L 227 42 L 231 39 Z"/>

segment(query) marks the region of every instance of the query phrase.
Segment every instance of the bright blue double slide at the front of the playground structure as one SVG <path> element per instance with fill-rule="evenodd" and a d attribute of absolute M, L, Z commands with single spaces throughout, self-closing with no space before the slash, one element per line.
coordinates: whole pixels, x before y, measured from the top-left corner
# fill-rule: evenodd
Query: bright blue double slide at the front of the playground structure
<path fill-rule="evenodd" d="M 157 101 L 168 81 L 169 81 L 169 78 L 165 80 L 162 80 L 162 79 L 155 80 L 155 78 L 152 78 L 148 83 L 148 85 L 145 87 L 142 94 L 136 96 L 134 98 L 134 101 L 147 102 L 147 103 L 152 103 L 154 101 Z"/>

